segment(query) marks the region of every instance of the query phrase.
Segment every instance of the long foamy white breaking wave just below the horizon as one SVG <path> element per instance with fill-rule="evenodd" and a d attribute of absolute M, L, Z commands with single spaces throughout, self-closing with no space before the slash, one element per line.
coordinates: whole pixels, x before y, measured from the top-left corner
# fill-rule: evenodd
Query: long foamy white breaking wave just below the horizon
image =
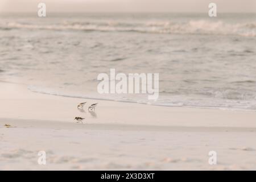
<path fill-rule="evenodd" d="M 58 24 L 30 24 L 7 22 L 1 30 L 14 28 L 42 30 L 120 31 L 152 34 L 220 34 L 256 36 L 256 23 L 225 23 L 223 21 L 190 20 L 188 22 L 63 22 Z"/>

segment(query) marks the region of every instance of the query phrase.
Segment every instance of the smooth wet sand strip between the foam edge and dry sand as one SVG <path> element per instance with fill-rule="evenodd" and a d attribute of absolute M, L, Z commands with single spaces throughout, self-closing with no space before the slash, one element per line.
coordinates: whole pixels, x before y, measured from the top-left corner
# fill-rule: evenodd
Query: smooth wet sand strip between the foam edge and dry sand
<path fill-rule="evenodd" d="M 153 126 L 256 127 L 255 111 L 165 107 L 131 102 L 81 99 L 35 93 L 26 85 L 0 83 L 0 118 L 34 119 L 73 123 L 86 117 L 88 123 L 115 123 Z M 87 101 L 83 112 L 77 105 Z M 86 109 L 100 102 L 95 113 Z M 25 104 L 26 103 L 26 104 Z M 160 119 L 161 118 L 161 119 Z M 246 118 L 246 122 L 244 119 Z M 189 121 L 188 121 L 189 120 Z"/>

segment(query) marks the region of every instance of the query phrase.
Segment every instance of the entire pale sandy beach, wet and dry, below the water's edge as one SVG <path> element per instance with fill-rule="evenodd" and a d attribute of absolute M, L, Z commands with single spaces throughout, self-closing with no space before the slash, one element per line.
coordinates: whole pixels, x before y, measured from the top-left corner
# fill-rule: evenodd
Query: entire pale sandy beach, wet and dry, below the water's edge
<path fill-rule="evenodd" d="M 256 169 L 253 111 L 81 100 L 0 85 L 1 170 Z M 95 113 L 81 113 L 76 106 L 84 101 L 100 104 Z M 39 151 L 46 151 L 45 166 L 38 164 Z"/>

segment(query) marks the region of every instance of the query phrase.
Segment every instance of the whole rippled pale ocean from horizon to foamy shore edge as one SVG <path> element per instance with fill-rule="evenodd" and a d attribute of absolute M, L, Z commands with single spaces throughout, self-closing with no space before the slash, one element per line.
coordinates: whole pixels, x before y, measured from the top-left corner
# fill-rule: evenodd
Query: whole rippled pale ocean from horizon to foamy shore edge
<path fill-rule="evenodd" d="M 81 100 L 256 110 L 255 47 L 256 14 L 1 14 L 0 80 Z M 110 68 L 159 73 L 159 99 L 98 94 Z"/>

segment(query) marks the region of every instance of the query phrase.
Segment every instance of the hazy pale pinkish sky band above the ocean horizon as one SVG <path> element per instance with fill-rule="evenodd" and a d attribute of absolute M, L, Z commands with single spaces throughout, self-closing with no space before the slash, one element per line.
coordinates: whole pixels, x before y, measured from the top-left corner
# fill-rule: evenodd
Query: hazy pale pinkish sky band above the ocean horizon
<path fill-rule="evenodd" d="M 222 13 L 256 13 L 256 0 L 0 0 L 0 12 L 207 12 L 210 2 Z"/>

